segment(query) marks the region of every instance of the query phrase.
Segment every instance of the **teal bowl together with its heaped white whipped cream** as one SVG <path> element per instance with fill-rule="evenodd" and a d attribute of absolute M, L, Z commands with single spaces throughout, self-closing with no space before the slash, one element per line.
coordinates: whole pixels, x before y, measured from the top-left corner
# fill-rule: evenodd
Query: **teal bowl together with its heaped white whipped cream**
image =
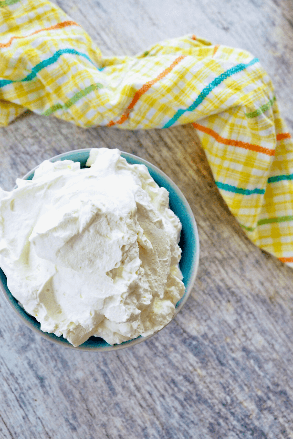
<path fill-rule="evenodd" d="M 123 349 L 166 326 L 199 264 L 179 188 L 118 149 L 45 160 L 0 188 L 0 288 L 33 331 L 86 351 Z"/>

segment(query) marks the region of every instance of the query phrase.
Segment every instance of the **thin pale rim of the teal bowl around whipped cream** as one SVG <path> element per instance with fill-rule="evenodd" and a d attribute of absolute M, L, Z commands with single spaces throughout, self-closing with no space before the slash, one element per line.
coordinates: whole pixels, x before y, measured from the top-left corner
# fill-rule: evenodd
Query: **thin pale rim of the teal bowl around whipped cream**
<path fill-rule="evenodd" d="M 89 152 L 91 149 L 93 148 L 81 148 L 81 149 L 75 149 L 75 150 L 71 150 L 71 151 L 67 151 L 67 152 L 63 152 L 62 154 L 58 154 L 55 155 L 54 157 L 49 158 L 49 162 L 57 162 L 59 159 L 67 157 L 69 155 L 72 154 L 76 154 L 76 153 L 81 153 L 81 152 Z M 110 148 L 109 148 L 110 149 Z M 112 149 L 112 148 L 111 148 Z M 118 149 L 118 148 L 117 148 Z M 145 160 L 144 158 L 138 157 L 137 155 L 134 154 L 130 154 L 129 152 L 125 152 L 125 151 L 121 151 L 119 150 L 121 153 L 121 156 L 123 158 L 132 158 L 134 160 L 139 160 L 141 163 L 138 164 L 143 164 L 145 166 L 147 166 L 147 168 L 151 168 L 153 169 L 156 173 L 159 174 L 159 176 L 161 176 L 164 180 L 166 180 L 170 186 L 177 192 L 177 194 L 180 196 L 181 201 L 184 204 L 184 208 L 186 209 L 186 211 L 188 212 L 188 216 L 191 219 L 192 222 L 192 227 L 193 227 L 193 231 L 195 234 L 195 248 L 196 248 L 196 253 L 195 253 L 195 261 L 193 263 L 193 267 L 192 267 L 192 273 L 190 276 L 190 280 L 189 280 L 189 284 L 188 284 L 188 288 L 185 289 L 184 291 L 184 295 L 183 297 L 180 299 L 180 301 L 177 302 L 176 308 L 175 308 L 175 313 L 174 316 L 172 317 L 172 319 L 170 320 L 170 322 L 176 317 L 176 315 L 179 313 L 179 311 L 181 310 L 182 306 L 184 306 L 184 303 L 187 301 L 192 288 L 194 286 L 195 283 L 195 279 L 196 279 L 196 274 L 198 271 L 198 267 L 199 267 L 199 233 L 198 233 L 198 229 L 197 229 L 197 225 L 195 222 L 195 217 L 194 214 L 192 212 L 192 209 L 190 207 L 190 205 L 188 204 L 188 201 L 186 200 L 186 198 L 184 197 L 183 193 L 181 192 L 181 190 L 179 189 L 179 187 L 174 183 L 173 180 L 170 179 L 169 176 L 167 176 L 163 171 L 161 171 L 161 169 L 159 169 L 157 166 L 153 165 L 152 163 L 148 162 L 147 160 Z M 69 159 L 71 160 L 71 159 Z M 78 161 L 78 160 L 77 160 Z M 35 170 L 39 167 L 40 165 L 35 166 L 33 169 L 31 169 L 28 173 L 26 173 L 23 177 L 22 180 L 27 180 L 27 178 L 35 172 Z M 17 187 L 17 185 L 15 186 Z M 15 189 L 14 187 L 14 189 Z M 8 287 L 7 287 L 8 288 Z M 125 349 L 127 347 L 130 346 L 134 346 L 137 345 L 138 343 L 141 343 L 145 340 L 148 340 L 148 338 L 152 337 L 153 335 L 158 334 L 159 331 L 162 331 L 162 329 L 164 329 L 170 322 L 168 322 L 165 326 L 163 326 L 163 328 L 159 329 L 159 331 L 154 332 L 151 335 L 148 335 L 146 337 L 142 337 L 141 335 L 137 338 L 131 339 L 131 340 L 127 340 L 126 342 L 120 343 L 119 345 L 109 345 L 109 346 L 101 346 L 101 347 L 90 347 L 90 346 L 83 346 L 83 344 L 74 347 L 73 345 L 71 345 L 71 343 L 65 343 L 62 342 L 59 338 L 52 338 L 51 337 L 51 333 L 48 332 L 44 332 L 42 331 L 40 328 L 37 328 L 33 325 L 33 323 L 30 320 L 27 320 L 25 317 L 22 316 L 22 314 L 19 313 L 19 309 L 16 306 L 15 303 L 11 302 L 11 299 L 8 297 L 7 292 L 5 291 L 4 285 L 2 283 L 2 280 L 0 279 L 0 290 L 2 291 L 2 293 L 4 294 L 5 299 L 7 300 L 8 304 L 11 306 L 11 308 L 14 310 L 14 312 L 18 315 L 18 317 L 30 328 L 32 329 L 36 334 L 40 335 L 43 338 L 46 338 L 47 340 L 49 340 L 52 343 L 56 343 L 58 345 L 61 345 L 65 348 L 69 348 L 69 349 L 75 349 L 75 350 L 80 350 L 80 351 L 84 351 L 84 352 L 108 352 L 108 351 L 113 351 L 113 350 L 119 350 L 119 349 Z M 11 294 L 12 295 L 12 294 Z M 13 296 L 14 297 L 14 296 Z M 14 298 L 15 299 L 15 298 Z M 17 300 L 17 299 L 15 299 Z M 180 303 L 179 303 L 180 302 Z M 20 305 L 18 305 L 20 306 Z M 25 311 L 25 310 L 24 310 Z M 26 311 L 25 311 L 26 312 Z M 27 314 L 29 316 L 29 314 Z"/>

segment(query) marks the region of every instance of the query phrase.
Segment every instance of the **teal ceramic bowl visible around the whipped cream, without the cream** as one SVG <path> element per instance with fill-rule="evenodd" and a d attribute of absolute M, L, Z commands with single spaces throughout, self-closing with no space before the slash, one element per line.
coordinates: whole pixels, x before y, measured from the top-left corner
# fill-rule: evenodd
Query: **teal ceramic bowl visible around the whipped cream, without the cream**
<path fill-rule="evenodd" d="M 90 149 L 79 149 L 76 151 L 65 152 L 64 154 L 56 155 L 51 158 L 51 162 L 57 162 L 58 160 L 73 160 L 73 162 L 80 162 L 80 165 L 85 167 L 87 159 L 90 155 Z M 179 217 L 182 223 L 182 231 L 181 231 L 181 239 L 180 239 L 180 247 L 182 249 L 181 261 L 179 263 L 180 269 L 183 274 L 183 282 L 185 285 L 185 292 L 182 299 L 177 302 L 175 315 L 180 311 L 188 296 L 192 290 L 193 284 L 195 282 L 196 272 L 199 265 L 199 235 L 195 223 L 195 219 L 186 201 L 184 195 L 180 191 L 180 189 L 173 183 L 172 180 L 166 174 L 164 174 L 160 169 L 151 163 L 143 160 L 142 158 L 137 157 L 136 155 L 128 154 L 127 152 L 122 152 L 121 156 L 126 158 L 127 162 L 131 165 L 140 164 L 145 165 L 148 168 L 149 173 L 152 178 L 156 181 L 156 183 L 160 187 L 165 187 L 167 191 L 169 191 L 169 202 L 170 209 Z M 36 166 L 37 168 L 37 166 Z M 35 169 L 32 169 L 29 173 L 27 173 L 23 179 L 31 180 L 33 178 Z M 18 301 L 14 299 L 13 295 L 7 288 L 7 281 L 4 272 L 0 269 L 0 289 L 4 293 L 5 298 L 7 299 L 9 305 L 12 309 L 18 314 L 18 316 L 23 320 L 25 324 L 27 324 L 33 331 L 37 334 L 41 335 L 47 340 L 51 342 L 58 343 L 64 347 L 79 349 L 83 351 L 90 352 L 102 352 L 102 351 L 112 351 L 115 349 L 123 349 L 129 346 L 136 345 L 137 343 L 143 342 L 147 340 L 149 337 L 137 337 L 133 340 L 129 340 L 127 342 L 123 342 L 120 345 L 111 346 L 105 340 L 99 337 L 90 337 L 86 342 L 77 348 L 73 347 L 65 338 L 57 337 L 57 335 L 50 334 L 48 332 L 43 332 L 40 329 L 40 323 L 32 316 L 27 314 L 21 306 L 18 305 Z M 174 315 L 174 317 L 175 317 Z M 173 318 L 174 318 L 173 317 Z"/>

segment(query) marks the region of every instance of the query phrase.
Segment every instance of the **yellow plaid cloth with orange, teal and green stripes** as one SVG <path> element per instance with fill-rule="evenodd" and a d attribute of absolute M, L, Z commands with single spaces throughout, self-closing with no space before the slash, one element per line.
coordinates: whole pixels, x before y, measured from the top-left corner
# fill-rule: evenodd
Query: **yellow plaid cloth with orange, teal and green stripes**
<path fill-rule="evenodd" d="M 0 125 L 27 108 L 83 127 L 193 122 L 250 239 L 293 266 L 293 143 L 269 77 L 245 50 L 188 35 L 105 58 L 49 1 L 0 0 Z"/>

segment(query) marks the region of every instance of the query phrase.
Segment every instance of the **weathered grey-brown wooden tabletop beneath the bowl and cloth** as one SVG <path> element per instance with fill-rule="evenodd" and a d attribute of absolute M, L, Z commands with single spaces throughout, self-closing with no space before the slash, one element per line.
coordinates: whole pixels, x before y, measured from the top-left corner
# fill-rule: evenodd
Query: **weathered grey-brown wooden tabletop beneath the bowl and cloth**
<path fill-rule="evenodd" d="M 292 0 L 57 3 L 105 55 L 186 33 L 250 50 L 293 132 Z M 0 439 L 293 438 L 293 270 L 246 238 L 194 128 L 83 130 L 27 112 L 0 129 L 0 185 L 89 147 L 145 158 L 181 188 L 199 228 L 195 287 L 159 334 L 109 353 L 48 342 L 0 295 Z"/>

